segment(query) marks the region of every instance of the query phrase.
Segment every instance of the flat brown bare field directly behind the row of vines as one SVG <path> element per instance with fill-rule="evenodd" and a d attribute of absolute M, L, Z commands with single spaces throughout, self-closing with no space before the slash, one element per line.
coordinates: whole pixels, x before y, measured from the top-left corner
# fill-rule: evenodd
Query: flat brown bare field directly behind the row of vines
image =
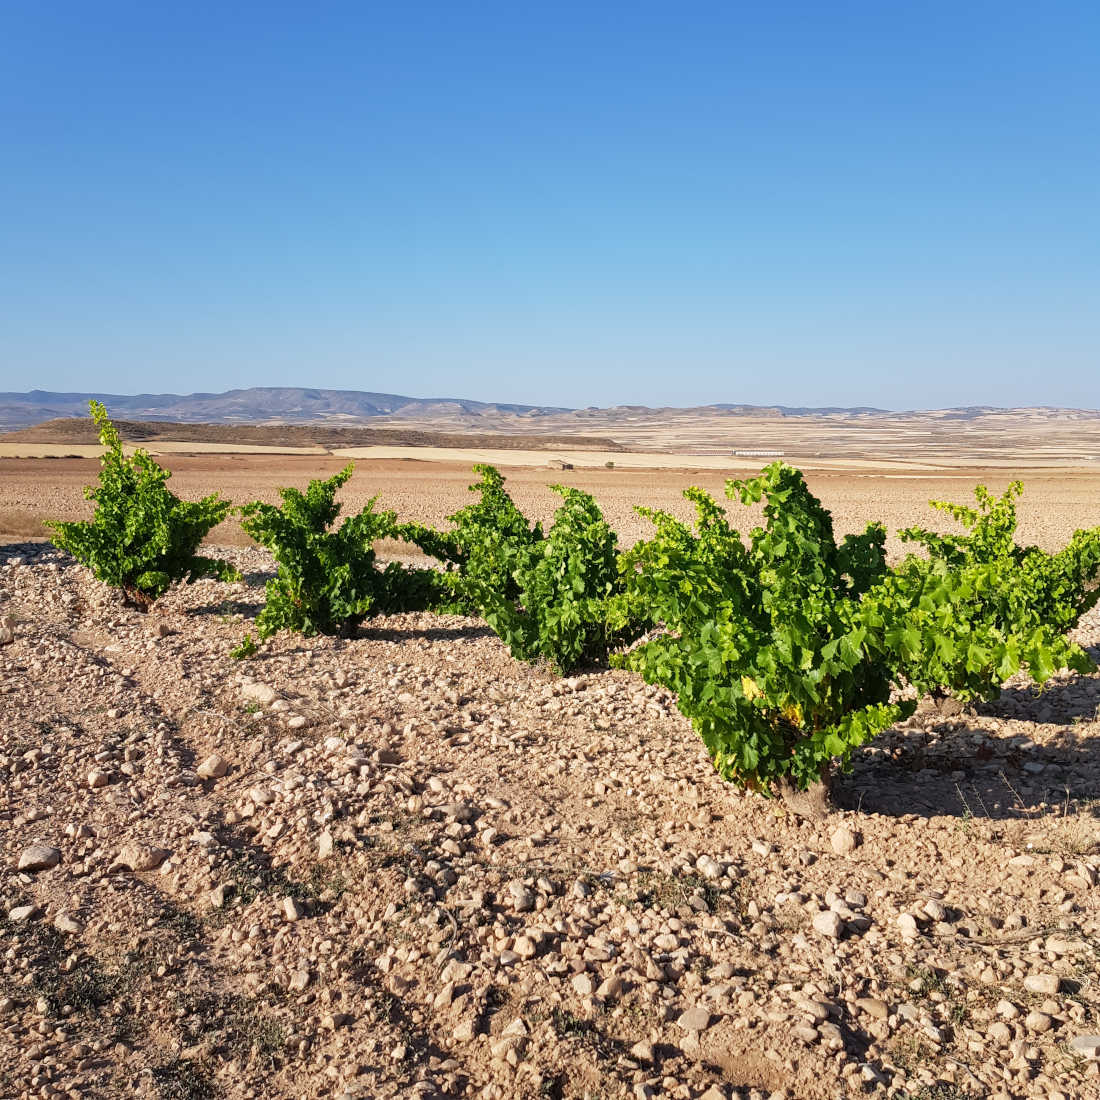
<path fill-rule="evenodd" d="M 340 497 L 345 512 L 358 512 L 377 495 L 378 507 L 395 509 L 398 519 L 446 524 L 449 515 L 472 499 L 468 486 L 475 475 L 465 461 L 435 461 L 430 453 L 424 449 L 420 459 L 356 461 L 355 473 Z M 276 502 L 279 486 L 305 488 L 311 477 L 330 476 L 348 460 L 314 454 L 167 454 L 158 461 L 173 471 L 169 485 L 180 496 L 198 499 L 219 492 L 243 504 L 251 499 Z M 549 485 L 560 482 L 593 493 L 623 543 L 629 546 L 651 531 L 649 521 L 635 513 L 636 506 L 663 508 L 689 519 L 692 508 L 682 497 L 686 486 L 701 485 L 725 499 L 726 480 L 750 476 L 762 460 L 723 463 L 722 469 L 707 470 L 691 469 L 686 464 L 690 460 L 682 455 L 663 461 L 685 464 L 646 470 L 618 465 L 608 470 L 602 464 L 554 470 L 548 466 L 544 453 L 534 463 L 519 465 L 513 452 L 510 461 L 502 462 L 499 469 L 519 507 L 543 522 L 552 518 L 559 503 Z M 0 459 L 0 538 L 43 537 L 43 519 L 89 518 L 92 506 L 82 488 L 95 482 L 98 471 L 98 462 L 90 458 Z M 950 529 L 949 522 L 927 507 L 930 499 L 970 503 L 975 484 L 985 483 L 1001 493 L 1015 475 L 1025 484 L 1019 504 L 1022 541 L 1055 549 L 1076 528 L 1100 525 L 1100 472 L 1026 468 L 1012 474 L 981 468 L 934 472 L 806 470 L 810 487 L 833 512 L 838 532 L 861 530 L 869 521 L 881 520 L 890 534 L 888 548 L 893 554 L 903 549 L 894 537 L 900 528 L 923 524 Z M 759 521 L 758 509 L 730 505 L 729 513 L 743 531 Z M 242 543 L 246 539 L 235 520 L 230 520 L 215 530 L 212 541 Z M 398 548 L 391 549 L 398 552 Z"/>

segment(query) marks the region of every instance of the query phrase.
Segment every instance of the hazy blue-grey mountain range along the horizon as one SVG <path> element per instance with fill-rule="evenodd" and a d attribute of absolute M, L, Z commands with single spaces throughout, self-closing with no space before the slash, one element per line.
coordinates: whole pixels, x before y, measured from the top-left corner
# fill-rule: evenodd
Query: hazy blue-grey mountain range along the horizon
<path fill-rule="evenodd" d="M 58 417 L 87 415 L 88 400 L 102 402 L 112 417 L 132 420 L 169 420 L 212 425 L 326 425 L 356 427 L 377 425 L 380 420 L 446 422 L 454 428 L 484 430 L 531 430 L 542 419 L 553 419 L 556 427 L 574 419 L 578 426 L 598 418 L 605 425 L 618 419 L 639 417 L 828 417 L 828 418 L 905 418 L 934 416 L 939 419 L 974 420 L 987 416 L 1014 413 L 1038 418 L 1098 419 L 1100 413 L 1084 409 L 1000 409 L 993 406 L 969 406 L 936 413 L 891 413 L 887 409 L 859 406 L 856 408 L 810 408 L 802 406 L 760 406 L 716 404 L 691 409 L 653 409 L 642 405 L 612 408 L 571 409 L 550 405 L 512 405 L 496 402 L 472 402 L 459 397 L 404 397 L 399 394 L 376 394 L 355 389 L 307 389 L 297 386 L 254 386 L 229 389 L 223 394 L 62 394 L 44 389 L 29 393 L 0 393 L 0 431 L 26 428 Z"/>

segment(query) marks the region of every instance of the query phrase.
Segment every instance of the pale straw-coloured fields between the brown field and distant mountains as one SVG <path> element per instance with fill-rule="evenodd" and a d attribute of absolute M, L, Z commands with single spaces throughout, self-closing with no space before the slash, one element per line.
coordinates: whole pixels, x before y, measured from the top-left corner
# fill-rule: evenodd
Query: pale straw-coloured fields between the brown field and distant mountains
<path fill-rule="evenodd" d="M 721 464 L 723 458 L 732 458 L 738 451 L 774 451 L 804 469 L 902 465 L 1011 471 L 1079 466 L 1100 473 L 1100 413 L 1086 409 L 968 408 L 910 413 L 837 409 L 784 415 L 779 409 L 746 407 L 618 406 L 526 414 L 499 408 L 474 410 L 462 403 L 415 403 L 410 408 L 411 414 L 398 409 L 365 418 L 321 417 L 314 424 L 195 424 L 180 426 L 187 431 L 180 439 L 205 436 L 223 449 L 234 441 L 318 444 L 329 450 L 354 448 L 361 457 L 371 459 L 452 458 L 468 463 L 496 461 L 497 451 L 506 448 L 515 451 L 527 441 L 526 461 L 532 463 L 543 462 L 548 448 L 558 449 L 559 457 L 578 465 L 615 461 L 617 465 L 635 466 L 668 464 L 653 455 L 679 455 L 685 465 L 706 466 L 715 460 Z M 173 442 L 156 422 L 129 427 L 138 432 L 134 438 L 165 453 L 178 449 L 202 450 Z M 369 438 L 352 440 L 356 430 Z M 240 438 L 234 440 L 234 432 Z M 130 437 L 123 433 L 123 438 Z M 84 454 L 87 452 L 77 442 L 94 441 L 90 421 L 52 420 L 0 440 L 0 454 L 43 453 L 33 450 L 32 443 L 56 443 L 58 451 L 54 453 Z M 366 443 L 393 446 L 365 447 Z M 476 458 L 479 453 L 483 457 Z M 514 453 L 512 461 L 516 461 Z"/>

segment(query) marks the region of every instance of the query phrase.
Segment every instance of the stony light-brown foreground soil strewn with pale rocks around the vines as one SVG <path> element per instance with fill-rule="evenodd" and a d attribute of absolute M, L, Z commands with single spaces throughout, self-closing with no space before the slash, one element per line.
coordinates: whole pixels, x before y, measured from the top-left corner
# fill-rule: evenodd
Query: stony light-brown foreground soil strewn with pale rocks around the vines
<path fill-rule="evenodd" d="M 234 664 L 227 553 L 142 615 L 0 547 L 0 1096 L 1100 1096 L 1100 676 L 807 822 L 473 619 Z"/>

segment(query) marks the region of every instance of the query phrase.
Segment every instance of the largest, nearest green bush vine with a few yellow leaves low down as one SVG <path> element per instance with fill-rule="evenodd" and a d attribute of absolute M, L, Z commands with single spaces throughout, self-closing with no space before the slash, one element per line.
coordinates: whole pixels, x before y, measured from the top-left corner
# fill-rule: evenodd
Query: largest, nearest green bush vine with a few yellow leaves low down
<path fill-rule="evenodd" d="M 657 534 L 623 557 L 627 605 L 669 632 L 613 663 L 676 693 L 726 779 L 804 789 L 914 707 L 891 702 L 890 666 L 860 617 L 886 572 L 886 531 L 872 524 L 837 544 L 829 514 L 782 463 L 726 492 L 766 501 L 748 546 L 702 490 L 685 494 L 694 530 L 644 510 Z"/>

